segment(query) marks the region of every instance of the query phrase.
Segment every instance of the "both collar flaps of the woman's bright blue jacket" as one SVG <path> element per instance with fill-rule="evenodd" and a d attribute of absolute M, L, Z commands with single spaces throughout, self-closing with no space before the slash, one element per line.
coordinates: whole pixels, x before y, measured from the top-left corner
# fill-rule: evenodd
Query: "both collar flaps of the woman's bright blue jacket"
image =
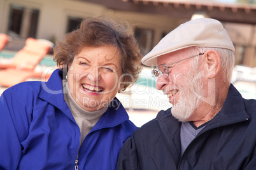
<path fill-rule="evenodd" d="M 63 72 L 59 69 L 54 70 L 50 79 L 47 82 L 42 82 L 39 97 L 62 110 L 62 112 L 64 112 L 69 119 L 75 122 L 68 104 L 64 100 L 62 79 Z M 114 98 L 111 101 L 108 110 L 103 114 L 92 130 L 103 127 L 117 126 L 117 124 L 120 124 L 127 119 L 129 119 L 129 116 L 125 111 L 125 108 L 117 98 Z"/>

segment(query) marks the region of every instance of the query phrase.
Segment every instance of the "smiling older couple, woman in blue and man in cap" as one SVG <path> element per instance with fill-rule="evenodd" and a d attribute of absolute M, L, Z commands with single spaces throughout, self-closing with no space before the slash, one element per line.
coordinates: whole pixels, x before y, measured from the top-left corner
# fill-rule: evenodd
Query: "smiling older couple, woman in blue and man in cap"
<path fill-rule="evenodd" d="M 129 24 L 87 18 L 53 59 L 48 82 L 0 97 L 0 169 L 256 169 L 256 101 L 231 84 L 234 46 L 217 20 L 181 24 L 141 60 Z M 115 95 L 141 61 L 173 107 L 138 129 Z"/>

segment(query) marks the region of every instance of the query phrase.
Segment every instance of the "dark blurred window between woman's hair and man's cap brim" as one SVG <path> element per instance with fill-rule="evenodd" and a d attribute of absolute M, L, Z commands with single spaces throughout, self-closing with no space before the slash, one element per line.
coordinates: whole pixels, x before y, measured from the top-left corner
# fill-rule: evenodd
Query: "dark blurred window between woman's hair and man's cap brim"
<path fill-rule="evenodd" d="M 141 53 L 146 55 L 151 51 L 153 46 L 153 30 L 135 28 L 134 33 L 137 41 L 139 42 Z"/>

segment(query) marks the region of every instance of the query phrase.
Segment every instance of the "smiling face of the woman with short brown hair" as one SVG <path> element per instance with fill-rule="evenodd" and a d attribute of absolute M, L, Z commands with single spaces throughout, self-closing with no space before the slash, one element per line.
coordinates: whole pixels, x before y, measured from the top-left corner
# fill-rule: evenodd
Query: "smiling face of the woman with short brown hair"
<path fill-rule="evenodd" d="M 114 46 L 84 47 L 68 69 L 68 88 L 87 111 L 106 107 L 117 95 L 122 75 L 120 51 Z"/>

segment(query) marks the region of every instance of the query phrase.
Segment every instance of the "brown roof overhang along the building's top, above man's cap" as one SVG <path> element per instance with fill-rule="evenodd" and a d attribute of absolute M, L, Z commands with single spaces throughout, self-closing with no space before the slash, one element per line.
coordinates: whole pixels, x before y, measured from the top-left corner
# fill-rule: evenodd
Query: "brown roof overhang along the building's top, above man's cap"
<path fill-rule="evenodd" d="M 80 0 L 97 3 L 113 10 L 165 15 L 190 19 L 195 13 L 205 13 L 221 22 L 256 24 L 256 5 L 220 3 L 205 0 Z"/>

